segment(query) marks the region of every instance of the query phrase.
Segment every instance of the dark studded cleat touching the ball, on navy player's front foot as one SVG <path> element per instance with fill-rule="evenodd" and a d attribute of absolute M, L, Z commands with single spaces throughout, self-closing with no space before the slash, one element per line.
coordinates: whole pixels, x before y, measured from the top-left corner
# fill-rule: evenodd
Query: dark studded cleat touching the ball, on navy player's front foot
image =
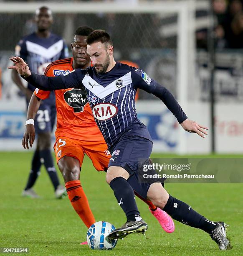
<path fill-rule="evenodd" d="M 128 220 L 121 228 L 117 228 L 109 234 L 111 239 L 122 239 L 133 233 L 145 233 L 148 225 L 144 220 L 131 221 Z"/>

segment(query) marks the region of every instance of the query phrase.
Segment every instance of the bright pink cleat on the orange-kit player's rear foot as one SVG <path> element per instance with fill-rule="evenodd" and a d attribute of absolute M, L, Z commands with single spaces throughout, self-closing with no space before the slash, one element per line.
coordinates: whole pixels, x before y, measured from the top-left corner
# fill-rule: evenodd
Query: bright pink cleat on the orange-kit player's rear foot
<path fill-rule="evenodd" d="M 159 207 L 157 207 L 157 210 L 152 211 L 150 210 L 152 215 L 158 220 L 159 224 L 165 230 L 167 233 L 172 233 L 175 230 L 174 221 L 168 215 L 165 211 L 161 210 Z"/>

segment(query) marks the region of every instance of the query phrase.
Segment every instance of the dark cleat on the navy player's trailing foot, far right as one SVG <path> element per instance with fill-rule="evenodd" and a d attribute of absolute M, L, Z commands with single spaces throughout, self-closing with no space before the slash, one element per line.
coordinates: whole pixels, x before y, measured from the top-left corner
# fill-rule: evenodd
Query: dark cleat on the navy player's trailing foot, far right
<path fill-rule="evenodd" d="M 218 244 L 220 250 L 227 250 L 230 248 L 230 242 L 226 236 L 226 230 L 228 225 L 223 221 L 215 222 L 216 228 L 212 231 L 210 237 Z"/>

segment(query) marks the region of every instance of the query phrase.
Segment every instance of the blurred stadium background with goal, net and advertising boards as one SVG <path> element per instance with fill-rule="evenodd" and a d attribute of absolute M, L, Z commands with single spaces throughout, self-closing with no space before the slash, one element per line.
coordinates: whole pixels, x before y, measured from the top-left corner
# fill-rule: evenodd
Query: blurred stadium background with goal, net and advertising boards
<path fill-rule="evenodd" d="M 241 0 L 0 1 L 0 150 L 22 150 L 25 100 L 6 67 L 19 39 L 35 31 L 33 13 L 41 5 L 53 10 L 52 31 L 67 44 L 78 26 L 107 30 L 116 60 L 137 63 L 192 120 L 210 127 L 204 140 L 185 133 L 156 97 L 140 91 L 137 111 L 154 152 L 243 152 Z"/>

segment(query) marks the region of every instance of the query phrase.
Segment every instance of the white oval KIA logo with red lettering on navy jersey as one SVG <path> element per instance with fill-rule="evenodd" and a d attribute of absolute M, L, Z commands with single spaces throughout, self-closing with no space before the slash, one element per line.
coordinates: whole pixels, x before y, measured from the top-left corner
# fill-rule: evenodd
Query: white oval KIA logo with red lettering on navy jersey
<path fill-rule="evenodd" d="M 110 103 L 99 103 L 92 108 L 94 117 L 97 120 L 108 120 L 116 115 L 118 109 Z"/>

